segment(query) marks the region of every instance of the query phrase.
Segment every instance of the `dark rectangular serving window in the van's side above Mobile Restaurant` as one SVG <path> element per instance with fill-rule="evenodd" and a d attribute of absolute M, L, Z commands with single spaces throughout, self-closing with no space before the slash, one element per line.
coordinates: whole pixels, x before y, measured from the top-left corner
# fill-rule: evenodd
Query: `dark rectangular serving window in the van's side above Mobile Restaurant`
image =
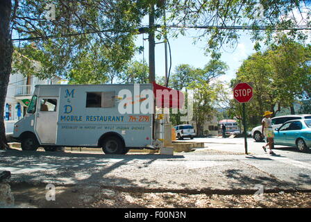
<path fill-rule="evenodd" d="M 115 106 L 115 92 L 87 92 L 87 108 L 111 108 Z"/>

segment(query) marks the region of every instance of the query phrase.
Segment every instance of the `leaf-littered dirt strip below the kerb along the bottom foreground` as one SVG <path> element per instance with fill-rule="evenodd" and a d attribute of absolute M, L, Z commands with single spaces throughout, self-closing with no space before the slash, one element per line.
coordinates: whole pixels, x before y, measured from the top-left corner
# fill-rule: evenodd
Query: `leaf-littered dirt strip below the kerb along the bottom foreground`
<path fill-rule="evenodd" d="M 182 194 L 128 192 L 96 186 L 56 187 L 55 200 L 46 199 L 44 185 L 12 185 L 15 207 L 311 207 L 311 193 L 258 195 Z"/>

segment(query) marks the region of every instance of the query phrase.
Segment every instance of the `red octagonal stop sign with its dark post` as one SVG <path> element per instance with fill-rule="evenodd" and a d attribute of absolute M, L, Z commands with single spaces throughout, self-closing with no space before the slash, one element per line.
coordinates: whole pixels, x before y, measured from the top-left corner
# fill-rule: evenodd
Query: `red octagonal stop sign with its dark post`
<path fill-rule="evenodd" d="M 242 103 L 242 112 L 243 112 L 243 127 L 244 127 L 244 147 L 245 154 L 247 152 L 247 128 L 246 128 L 246 111 L 245 103 L 248 103 L 253 97 L 253 87 L 249 83 L 238 83 L 233 88 L 233 97 L 239 102 Z"/>

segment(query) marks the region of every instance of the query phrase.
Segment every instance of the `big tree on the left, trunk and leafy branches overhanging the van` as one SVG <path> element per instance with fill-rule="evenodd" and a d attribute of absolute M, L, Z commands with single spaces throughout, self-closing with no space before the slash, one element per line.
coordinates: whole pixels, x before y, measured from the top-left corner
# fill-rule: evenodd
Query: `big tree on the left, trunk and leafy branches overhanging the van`
<path fill-rule="evenodd" d="M 111 58 L 114 55 L 119 56 L 117 54 L 120 49 L 123 50 L 121 53 L 126 54 L 128 52 L 128 56 L 131 57 L 133 40 L 138 33 L 137 27 L 140 26 L 144 15 L 148 14 L 149 6 L 150 1 L 148 0 L 1 0 L 0 113 L 3 114 L 6 90 L 12 69 L 12 35 L 25 41 L 19 45 L 20 48 L 27 48 L 33 42 L 36 49 L 42 51 L 44 57 L 39 62 L 44 61 L 44 58 L 49 60 L 49 62 L 40 64 L 44 67 L 42 70 L 51 69 L 49 74 L 53 73 L 62 77 L 71 74 L 72 77 L 78 76 L 78 81 L 85 82 L 83 74 L 81 74 L 79 69 L 90 67 L 90 58 L 94 55 L 91 56 L 86 52 L 90 52 L 90 49 L 95 49 L 94 46 L 97 45 L 98 49 L 101 50 L 105 49 L 104 46 L 106 46 L 106 49 L 109 49 L 110 46 L 110 53 L 106 53 L 106 55 L 109 55 Z M 47 14 L 47 12 L 49 13 Z M 54 12 L 55 17 L 53 17 Z M 19 56 L 25 56 L 22 54 L 22 51 L 17 51 Z M 29 51 L 24 49 L 24 52 L 27 53 L 26 57 L 29 56 Z M 93 50 L 93 52 L 96 53 L 96 50 Z M 124 54 L 121 56 L 121 60 L 125 59 L 127 61 L 127 55 L 123 57 Z M 90 57 L 83 58 L 83 55 Z M 105 58 L 107 59 L 108 56 Z M 81 61 L 82 64 L 78 65 L 78 61 Z M 115 59 L 112 60 L 112 62 L 114 61 Z M 109 62 L 105 62 L 105 64 L 110 64 Z M 124 62 L 119 61 L 112 65 L 115 65 L 114 70 L 119 71 L 123 64 Z M 31 72 L 32 68 L 29 62 L 27 66 L 28 68 L 22 67 L 21 69 L 24 74 Z M 102 75 L 101 69 L 104 67 L 103 65 L 95 73 Z M 109 74 L 109 71 L 106 73 Z M 90 76 L 91 74 L 87 73 L 86 75 Z M 90 81 L 92 82 L 92 80 Z M 5 148 L 6 146 L 3 118 L 1 118 L 0 148 Z"/>

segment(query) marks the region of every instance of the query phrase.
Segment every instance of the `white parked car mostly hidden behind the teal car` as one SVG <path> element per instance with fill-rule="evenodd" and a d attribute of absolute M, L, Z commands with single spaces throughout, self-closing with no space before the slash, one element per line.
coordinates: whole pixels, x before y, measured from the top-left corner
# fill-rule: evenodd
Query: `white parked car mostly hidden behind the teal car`
<path fill-rule="evenodd" d="M 311 119 L 311 114 L 295 114 L 295 115 L 287 115 L 287 116 L 280 116 L 280 117 L 273 117 L 271 118 L 272 121 L 272 128 L 275 130 L 276 128 L 280 128 L 283 123 L 289 120 L 294 119 Z M 262 135 L 262 126 L 256 126 L 251 130 L 251 136 L 255 139 L 256 142 L 262 142 L 264 139 Z"/>

